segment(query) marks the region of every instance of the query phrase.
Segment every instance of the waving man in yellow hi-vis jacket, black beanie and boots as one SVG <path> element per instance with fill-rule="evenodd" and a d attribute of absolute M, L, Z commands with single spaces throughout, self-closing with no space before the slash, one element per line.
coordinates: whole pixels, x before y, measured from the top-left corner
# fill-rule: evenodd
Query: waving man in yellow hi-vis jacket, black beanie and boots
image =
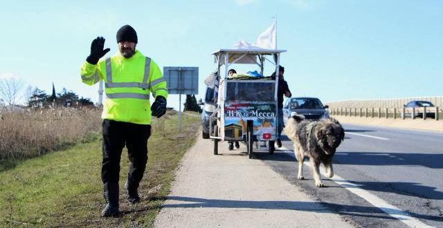
<path fill-rule="evenodd" d="M 93 85 L 105 81 L 107 99 L 103 106 L 103 196 L 106 200 L 103 217 L 120 216 L 118 211 L 118 177 L 123 147 L 127 147 L 129 173 L 125 183 L 127 199 L 140 201 L 138 184 L 147 163 L 147 139 L 151 134 L 151 116 L 161 117 L 166 112 L 168 91 L 159 66 L 136 50 L 137 33 L 129 25 L 117 32 L 118 55 L 100 59 L 105 39 L 92 41 L 91 53 L 80 69 L 82 82 Z M 150 93 L 155 98 L 150 103 Z"/>

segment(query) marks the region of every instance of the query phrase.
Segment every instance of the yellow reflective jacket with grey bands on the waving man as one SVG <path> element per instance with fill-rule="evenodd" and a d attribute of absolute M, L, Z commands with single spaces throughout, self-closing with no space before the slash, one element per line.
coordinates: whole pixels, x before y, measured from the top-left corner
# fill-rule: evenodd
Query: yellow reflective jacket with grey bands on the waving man
<path fill-rule="evenodd" d="M 96 65 L 85 61 L 80 75 L 82 82 L 90 86 L 105 81 L 107 99 L 102 119 L 150 124 L 150 92 L 153 97 L 168 98 L 166 81 L 159 66 L 138 50 L 129 59 L 118 54 L 100 59 Z"/>

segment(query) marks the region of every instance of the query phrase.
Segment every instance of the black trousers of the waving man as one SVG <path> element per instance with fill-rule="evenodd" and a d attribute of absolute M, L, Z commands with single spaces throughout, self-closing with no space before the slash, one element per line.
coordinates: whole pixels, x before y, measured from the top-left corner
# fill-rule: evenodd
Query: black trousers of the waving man
<path fill-rule="evenodd" d="M 147 139 L 151 125 L 103 120 L 102 182 L 118 183 L 120 158 L 126 146 L 129 161 L 128 181 L 136 187 L 143 178 L 147 163 Z"/>

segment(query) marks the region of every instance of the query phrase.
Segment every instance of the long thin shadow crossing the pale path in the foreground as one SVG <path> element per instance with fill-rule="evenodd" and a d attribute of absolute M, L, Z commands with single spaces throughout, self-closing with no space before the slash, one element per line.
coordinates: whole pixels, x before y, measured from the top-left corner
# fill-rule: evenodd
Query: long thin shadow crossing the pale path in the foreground
<path fill-rule="evenodd" d="M 193 198 L 184 196 L 168 196 L 169 200 L 177 200 L 181 202 L 167 202 L 165 208 L 250 208 L 250 209 L 285 209 L 297 211 L 315 211 L 317 213 L 330 213 L 325 209 L 333 209 L 336 213 L 348 216 L 364 216 L 370 218 L 383 218 L 395 220 L 391 216 L 381 211 L 377 207 L 354 206 L 354 205 L 338 205 L 334 203 L 323 202 L 319 206 L 319 202 L 298 202 L 298 201 L 253 201 L 253 200 L 214 200 L 205 198 Z M 374 215 L 375 213 L 375 215 Z M 404 211 L 392 211 L 392 214 L 403 215 Z M 428 216 L 419 213 L 409 213 L 410 216 L 425 220 L 442 220 L 438 216 Z"/>

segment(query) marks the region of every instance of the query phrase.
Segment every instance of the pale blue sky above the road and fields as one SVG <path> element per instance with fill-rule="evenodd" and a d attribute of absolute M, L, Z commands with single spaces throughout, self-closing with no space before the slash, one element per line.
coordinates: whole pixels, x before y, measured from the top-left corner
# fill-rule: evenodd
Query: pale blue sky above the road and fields
<path fill-rule="evenodd" d="M 82 84 L 80 66 L 98 36 L 111 48 L 107 56 L 116 54 L 116 31 L 129 24 L 137 49 L 162 70 L 199 67 L 199 99 L 216 68 L 212 53 L 240 39 L 255 43 L 276 16 L 293 96 L 325 103 L 443 95 L 440 0 L 0 2 L 0 79 L 23 79 L 48 94 L 54 83 L 57 93 L 98 102 L 98 86 Z M 179 95 L 168 106 L 178 110 Z"/>

